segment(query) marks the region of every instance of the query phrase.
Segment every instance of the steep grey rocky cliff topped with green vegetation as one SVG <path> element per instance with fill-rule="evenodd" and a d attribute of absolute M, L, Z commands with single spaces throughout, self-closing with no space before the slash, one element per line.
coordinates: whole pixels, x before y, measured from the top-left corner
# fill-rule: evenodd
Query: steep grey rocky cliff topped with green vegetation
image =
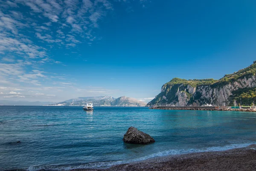
<path fill-rule="evenodd" d="M 175 106 L 199 106 L 203 104 L 233 105 L 256 102 L 256 61 L 249 67 L 225 75 L 219 80 L 173 78 L 161 88 L 148 106 L 159 103 Z"/>

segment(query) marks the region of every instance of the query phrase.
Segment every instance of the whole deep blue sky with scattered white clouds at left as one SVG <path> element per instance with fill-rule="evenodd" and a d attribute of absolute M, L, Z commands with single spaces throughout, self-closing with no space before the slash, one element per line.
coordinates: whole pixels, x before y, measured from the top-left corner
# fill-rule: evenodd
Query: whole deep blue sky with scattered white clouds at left
<path fill-rule="evenodd" d="M 255 0 L 0 0 L 0 100 L 148 102 L 255 60 Z"/>

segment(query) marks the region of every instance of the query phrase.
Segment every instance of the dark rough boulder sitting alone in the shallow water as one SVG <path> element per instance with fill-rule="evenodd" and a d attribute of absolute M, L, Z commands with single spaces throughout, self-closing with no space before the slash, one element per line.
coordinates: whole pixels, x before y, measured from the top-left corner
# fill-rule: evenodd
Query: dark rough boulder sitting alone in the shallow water
<path fill-rule="evenodd" d="M 143 133 L 134 127 L 130 127 L 127 130 L 123 141 L 131 144 L 149 144 L 155 142 L 155 140 L 150 135 Z"/>

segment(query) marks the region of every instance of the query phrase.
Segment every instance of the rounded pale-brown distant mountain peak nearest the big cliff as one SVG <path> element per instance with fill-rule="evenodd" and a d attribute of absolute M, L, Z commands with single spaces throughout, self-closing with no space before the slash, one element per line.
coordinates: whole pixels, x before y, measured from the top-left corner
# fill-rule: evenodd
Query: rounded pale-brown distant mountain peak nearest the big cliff
<path fill-rule="evenodd" d="M 111 102 L 111 106 L 145 106 L 146 103 L 134 98 L 122 96 Z"/>

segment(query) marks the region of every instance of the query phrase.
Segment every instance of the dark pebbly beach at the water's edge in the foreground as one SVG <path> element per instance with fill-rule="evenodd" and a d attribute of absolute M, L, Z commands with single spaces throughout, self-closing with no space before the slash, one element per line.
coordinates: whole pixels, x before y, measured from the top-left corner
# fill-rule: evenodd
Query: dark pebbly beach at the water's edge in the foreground
<path fill-rule="evenodd" d="M 107 169 L 72 171 L 256 171 L 256 145 L 227 151 L 157 157 Z"/>

